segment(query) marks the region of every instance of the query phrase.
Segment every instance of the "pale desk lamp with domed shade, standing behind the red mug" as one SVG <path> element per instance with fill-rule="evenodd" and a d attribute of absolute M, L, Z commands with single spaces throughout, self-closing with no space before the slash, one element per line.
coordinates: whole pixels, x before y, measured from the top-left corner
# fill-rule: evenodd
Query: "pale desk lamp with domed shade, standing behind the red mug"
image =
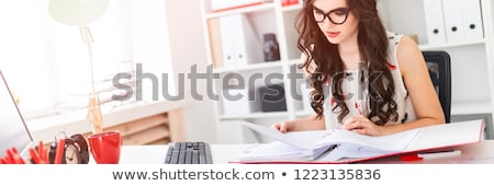
<path fill-rule="evenodd" d="M 100 101 L 94 91 L 91 48 L 93 39 L 88 24 L 101 18 L 106 11 L 108 5 L 109 0 L 49 0 L 48 2 L 48 13 L 52 19 L 65 25 L 78 26 L 82 42 L 87 45 L 89 68 L 91 72 L 91 94 L 89 96 L 87 118 L 93 133 L 102 131 L 103 117 L 101 114 Z"/>

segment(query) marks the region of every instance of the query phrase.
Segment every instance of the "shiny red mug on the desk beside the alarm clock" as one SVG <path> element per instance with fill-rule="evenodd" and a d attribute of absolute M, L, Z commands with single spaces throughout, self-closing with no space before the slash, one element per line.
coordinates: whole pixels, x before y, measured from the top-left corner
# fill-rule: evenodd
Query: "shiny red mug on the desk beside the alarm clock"
<path fill-rule="evenodd" d="M 102 131 L 88 136 L 91 154 L 98 164 L 117 164 L 122 138 L 120 131 Z"/>

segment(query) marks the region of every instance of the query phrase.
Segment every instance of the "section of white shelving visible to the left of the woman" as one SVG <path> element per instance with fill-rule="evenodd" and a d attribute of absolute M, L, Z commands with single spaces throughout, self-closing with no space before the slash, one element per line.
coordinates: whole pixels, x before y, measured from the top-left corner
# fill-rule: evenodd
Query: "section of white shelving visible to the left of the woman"
<path fill-rule="evenodd" d="M 240 9 L 233 9 L 222 12 L 211 12 L 210 3 L 211 0 L 203 0 L 201 1 L 202 8 L 203 8 L 203 27 L 204 27 L 204 37 L 205 43 L 207 47 L 207 62 L 209 65 L 216 65 L 218 60 L 215 58 L 214 53 L 221 53 L 221 48 L 217 48 L 218 46 L 213 45 L 213 40 L 210 40 L 210 35 L 213 33 L 210 33 L 210 21 L 215 21 L 217 19 L 221 19 L 223 16 L 234 15 L 234 14 L 244 14 L 248 19 L 250 25 L 254 27 L 257 37 L 259 40 L 262 40 L 262 35 L 265 33 L 274 33 L 278 44 L 279 44 L 279 50 L 280 50 L 280 60 L 278 61 L 269 61 L 269 62 L 258 62 L 258 61 L 249 61 L 250 63 L 248 66 L 235 66 L 235 67 L 214 67 L 213 72 L 218 73 L 221 79 L 215 80 L 215 92 L 221 95 L 221 92 L 223 91 L 223 84 L 222 78 L 227 74 L 239 74 L 240 77 L 245 79 L 249 79 L 250 77 L 255 75 L 256 73 L 262 74 L 262 79 L 258 79 L 255 81 L 254 84 L 247 84 L 249 86 L 250 93 L 256 93 L 257 89 L 267 84 L 277 84 L 277 83 L 283 83 L 284 92 L 287 95 L 287 111 L 282 112 L 260 112 L 260 102 L 259 100 L 255 100 L 250 103 L 250 112 L 245 114 L 235 114 L 235 115 L 225 115 L 224 109 L 234 109 L 234 108 L 224 108 L 223 107 L 223 101 L 220 100 L 216 102 L 215 105 L 215 113 L 217 114 L 218 118 L 218 126 L 222 127 L 225 124 L 228 124 L 228 127 L 225 127 L 228 129 L 228 131 L 222 131 L 220 129 L 220 139 L 222 139 L 220 142 L 225 143 L 235 143 L 235 142 L 244 142 L 242 139 L 238 138 L 238 136 L 251 136 L 246 135 L 242 127 L 238 125 L 237 127 L 232 126 L 237 124 L 236 120 L 249 120 L 254 123 L 260 123 L 266 125 L 271 125 L 277 121 L 283 121 L 287 119 L 294 119 L 295 117 L 300 117 L 300 114 L 302 112 L 301 101 L 293 101 L 290 98 L 290 90 L 291 84 L 290 80 L 288 79 L 287 74 L 290 72 L 291 67 L 296 66 L 300 58 L 299 49 L 296 48 L 296 32 L 294 28 L 294 16 L 296 15 L 297 11 L 302 8 L 302 0 L 299 4 L 292 4 L 288 7 L 281 5 L 281 0 L 273 0 L 272 2 L 266 2 L 260 5 L 254 5 L 254 7 L 246 7 Z M 258 47 L 260 50 L 262 50 L 262 45 L 259 45 Z M 217 51 L 220 50 L 220 51 Z M 274 82 L 263 82 L 265 78 L 269 74 L 278 73 L 281 75 L 279 79 L 274 79 Z M 302 81 L 299 80 L 299 81 Z M 252 95 L 250 95 L 252 96 Z M 252 98 L 252 97 L 251 97 Z M 254 97 L 255 98 L 255 97 Z M 223 132 L 228 132 L 225 136 L 232 137 L 237 136 L 237 140 L 235 139 L 225 139 L 222 137 Z M 237 135 L 232 135 L 237 133 Z M 247 140 L 248 141 L 248 140 Z"/>

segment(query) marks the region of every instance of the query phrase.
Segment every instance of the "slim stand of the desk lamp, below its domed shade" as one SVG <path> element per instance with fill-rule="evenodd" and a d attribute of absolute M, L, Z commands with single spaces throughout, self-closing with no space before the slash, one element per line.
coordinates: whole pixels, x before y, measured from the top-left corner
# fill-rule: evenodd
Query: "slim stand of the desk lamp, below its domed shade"
<path fill-rule="evenodd" d="M 88 120 L 91 125 L 92 133 L 99 133 L 103 131 L 103 116 L 101 114 L 100 108 L 100 98 L 94 91 L 94 71 L 93 71 L 93 62 L 92 62 L 92 47 L 93 43 L 91 31 L 88 26 L 81 26 L 79 28 L 80 35 L 82 37 L 82 42 L 88 47 L 89 55 L 89 70 L 91 72 L 91 94 L 89 95 L 89 105 L 88 105 Z"/>

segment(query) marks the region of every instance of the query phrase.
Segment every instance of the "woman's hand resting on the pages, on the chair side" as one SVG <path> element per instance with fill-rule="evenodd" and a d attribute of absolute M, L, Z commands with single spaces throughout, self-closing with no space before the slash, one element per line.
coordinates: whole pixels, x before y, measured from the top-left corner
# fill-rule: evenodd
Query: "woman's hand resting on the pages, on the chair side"
<path fill-rule="evenodd" d="M 353 116 L 346 120 L 343 125 L 344 129 L 355 131 L 360 135 L 384 136 L 386 135 L 383 126 L 378 126 L 370 121 L 366 116 Z"/>

